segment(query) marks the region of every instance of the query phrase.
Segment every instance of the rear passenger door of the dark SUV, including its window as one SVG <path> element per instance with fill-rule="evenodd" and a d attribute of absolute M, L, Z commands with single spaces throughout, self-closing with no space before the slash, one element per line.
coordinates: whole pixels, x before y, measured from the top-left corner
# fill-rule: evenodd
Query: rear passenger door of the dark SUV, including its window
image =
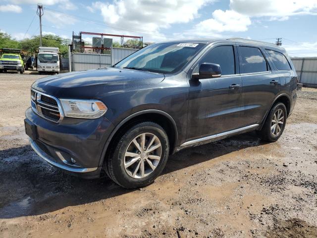
<path fill-rule="evenodd" d="M 280 90 L 278 74 L 258 46 L 239 45 L 239 65 L 242 79 L 241 116 L 244 125 L 260 124 Z"/>

